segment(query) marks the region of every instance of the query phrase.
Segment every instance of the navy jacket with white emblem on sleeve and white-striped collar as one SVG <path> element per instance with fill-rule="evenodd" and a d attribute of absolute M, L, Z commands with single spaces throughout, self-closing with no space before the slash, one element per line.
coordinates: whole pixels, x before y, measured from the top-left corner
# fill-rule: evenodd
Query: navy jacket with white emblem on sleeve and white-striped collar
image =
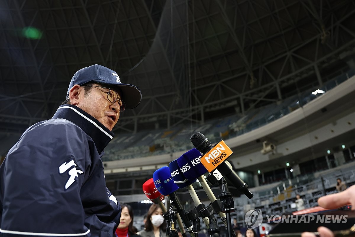
<path fill-rule="evenodd" d="M 0 236 L 112 237 L 121 206 L 101 157 L 113 136 L 69 104 L 28 128 L 0 167 Z"/>

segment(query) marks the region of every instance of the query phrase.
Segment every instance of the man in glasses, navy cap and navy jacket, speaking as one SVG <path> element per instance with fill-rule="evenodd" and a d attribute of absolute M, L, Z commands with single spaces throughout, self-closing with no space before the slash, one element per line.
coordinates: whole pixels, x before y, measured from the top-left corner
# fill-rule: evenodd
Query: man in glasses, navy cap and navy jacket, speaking
<path fill-rule="evenodd" d="M 66 96 L 53 118 L 23 133 L 0 166 L 0 235 L 115 234 L 121 206 L 106 187 L 101 157 L 120 114 L 138 106 L 141 92 L 93 65 L 75 73 Z"/>

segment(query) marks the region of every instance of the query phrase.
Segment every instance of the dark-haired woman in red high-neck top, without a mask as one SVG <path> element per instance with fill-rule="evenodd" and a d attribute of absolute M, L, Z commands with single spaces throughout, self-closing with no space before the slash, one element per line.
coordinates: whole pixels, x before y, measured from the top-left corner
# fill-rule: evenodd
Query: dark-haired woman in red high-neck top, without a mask
<path fill-rule="evenodd" d="M 139 237 L 137 229 L 133 226 L 133 211 L 130 205 L 121 204 L 122 212 L 120 224 L 116 229 L 116 237 Z"/>

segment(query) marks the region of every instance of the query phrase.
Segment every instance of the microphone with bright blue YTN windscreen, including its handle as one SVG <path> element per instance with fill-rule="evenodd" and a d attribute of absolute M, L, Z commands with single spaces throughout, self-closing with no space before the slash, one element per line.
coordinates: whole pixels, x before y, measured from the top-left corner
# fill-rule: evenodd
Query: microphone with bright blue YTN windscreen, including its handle
<path fill-rule="evenodd" d="M 184 206 L 182 206 L 181 201 L 176 194 L 176 190 L 179 189 L 178 185 L 176 185 L 171 178 L 170 169 L 168 166 L 163 166 L 162 168 L 157 169 L 153 173 L 153 181 L 157 190 L 164 196 L 170 196 L 170 202 L 172 202 L 180 214 L 181 220 L 192 236 L 192 222 L 187 220 L 185 216 Z"/>

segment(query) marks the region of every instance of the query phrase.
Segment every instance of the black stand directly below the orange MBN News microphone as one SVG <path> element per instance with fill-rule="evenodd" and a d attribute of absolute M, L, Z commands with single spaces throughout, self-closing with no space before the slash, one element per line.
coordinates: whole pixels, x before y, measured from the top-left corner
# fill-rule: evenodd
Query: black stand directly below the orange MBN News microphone
<path fill-rule="evenodd" d="M 227 218 L 228 237 L 232 237 L 231 233 L 232 231 L 234 232 L 234 230 L 232 228 L 230 214 L 235 211 L 233 197 L 229 192 L 228 185 L 224 177 L 218 181 L 218 184 L 220 190 L 219 199 L 221 200 L 221 211 L 225 213 Z"/>

